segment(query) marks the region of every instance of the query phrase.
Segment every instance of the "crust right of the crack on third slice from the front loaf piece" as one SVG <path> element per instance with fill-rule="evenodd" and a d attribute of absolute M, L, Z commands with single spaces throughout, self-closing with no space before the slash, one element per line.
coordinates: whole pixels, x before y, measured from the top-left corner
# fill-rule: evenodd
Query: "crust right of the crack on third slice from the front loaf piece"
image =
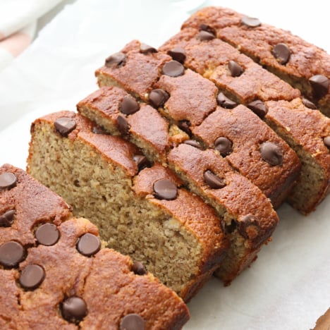
<path fill-rule="evenodd" d="M 290 192 L 300 170 L 300 161 L 271 128 L 245 106 L 224 109 L 220 106 L 203 123 L 193 128 L 193 134 L 214 148 L 217 138 L 224 136 L 233 142 L 233 152 L 226 159 L 243 176 L 255 183 L 278 207 Z M 259 151 L 263 142 L 272 142 L 281 148 L 283 164 L 271 166 Z"/>

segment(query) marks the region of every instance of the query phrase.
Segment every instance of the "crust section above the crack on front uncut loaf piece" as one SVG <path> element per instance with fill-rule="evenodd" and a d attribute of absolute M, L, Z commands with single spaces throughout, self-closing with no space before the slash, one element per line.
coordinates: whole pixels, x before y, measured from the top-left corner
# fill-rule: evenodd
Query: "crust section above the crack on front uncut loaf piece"
<path fill-rule="evenodd" d="M 72 216 L 71 207 L 63 198 L 40 185 L 25 171 L 4 164 L 0 175 L 5 173 L 13 174 L 16 184 L 10 189 L 0 188 L 0 216 L 7 212 L 14 214 L 8 224 L 0 226 L 0 245 L 8 240 L 19 240 L 23 245 L 33 244 L 35 236 L 32 230 L 39 224 L 52 222 L 59 225 Z M 42 196 L 42 202 L 36 196 Z"/>

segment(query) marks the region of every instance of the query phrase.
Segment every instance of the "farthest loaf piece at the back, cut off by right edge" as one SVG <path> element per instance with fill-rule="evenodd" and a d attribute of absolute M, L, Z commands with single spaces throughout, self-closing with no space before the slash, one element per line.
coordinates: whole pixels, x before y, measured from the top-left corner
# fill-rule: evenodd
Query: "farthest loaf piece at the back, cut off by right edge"
<path fill-rule="evenodd" d="M 183 23 L 183 28 L 199 29 L 201 25 L 298 88 L 330 116 L 330 55 L 326 51 L 289 31 L 228 8 L 202 8 Z"/>

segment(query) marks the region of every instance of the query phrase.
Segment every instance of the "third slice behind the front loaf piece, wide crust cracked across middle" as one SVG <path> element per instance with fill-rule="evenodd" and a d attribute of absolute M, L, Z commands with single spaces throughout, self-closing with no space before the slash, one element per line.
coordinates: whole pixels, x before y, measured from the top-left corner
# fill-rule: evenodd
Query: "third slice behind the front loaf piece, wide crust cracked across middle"
<path fill-rule="evenodd" d="M 175 124 L 191 135 L 192 132 L 194 133 L 194 128 L 202 126 L 204 121 L 217 109 L 218 90 L 216 86 L 201 75 L 189 69 L 185 70 L 181 63 L 171 60 L 171 57 L 166 59 L 165 63 L 157 62 L 157 65 L 153 66 L 154 59 L 159 56 L 163 58 L 165 54 L 154 52 L 142 54 L 140 47 L 139 42 L 130 42 L 121 51 L 125 58 L 121 64 L 109 65 L 107 60 L 106 66 L 99 68 L 96 72 L 99 85 L 121 85 L 133 95 L 138 94 L 140 99 L 157 108 L 171 124 Z M 111 59 L 111 56 L 108 59 Z M 134 70 L 134 68 L 136 69 Z M 147 70 L 153 74 L 158 72 L 158 81 L 155 78 L 152 79 L 153 83 L 149 87 L 143 82 L 144 92 L 141 93 L 135 87 L 135 82 L 141 79 L 140 77 L 147 75 Z M 133 81 L 131 85 L 126 80 L 128 75 Z M 160 102 L 159 92 L 164 96 Z M 218 128 L 224 121 L 226 131 L 217 132 L 210 126 L 207 136 L 200 135 L 199 138 L 205 142 L 205 139 L 212 135 L 214 140 L 211 143 L 205 142 L 207 146 L 211 145 L 211 147 L 214 147 L 218 138 L 233 139 L 229 141 L 233 145 L 232 152 L 228 152 L 228 155 L 224 154 L 223 157 L 226 157 L 234 169 L 262 189 L 263 193 L 271 198 L 274 207 L 278 207 L 290 192 L 299 174 L 300 162 L 295 152 L 251 111 L 246 111 L 245 118 L 239 116 L 233 118 L 231 111 L 227 111 L 224 118 L 218 118 L 218 120 Z M 247 123 L 251 121 L 253 128 L 250 130 L 248 138 L 236 130 L 235 126 L 229 127 L 227 125 L 229 121 L 240 121 L 239 125 L 246 127 L 244 133 L 249 130 Z M 261 149 L 265 142 L 270 142 L 275 149 L 279 150 L 281 161 L 269 164 L 262 157 Z M 233 163 L 232 160 L 235 158 L 238 161 Z M 245 162 L 242 159 L 245 159 Z M 256 171 L 258 166 L 262 169 L 267 167 L 267 171 Z"/>

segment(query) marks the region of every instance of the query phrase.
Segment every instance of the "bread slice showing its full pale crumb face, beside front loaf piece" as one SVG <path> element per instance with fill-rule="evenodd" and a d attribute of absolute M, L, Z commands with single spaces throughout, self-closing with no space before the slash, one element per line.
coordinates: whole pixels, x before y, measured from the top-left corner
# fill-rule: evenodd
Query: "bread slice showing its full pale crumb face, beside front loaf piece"
<path fill-rule="evenodd" d="M 109 247 L 143 262 L 189 300 L 224 259 L 221 219 L 163 166 L 139 172 L 137 147 L 92 130 L 70 111 L 39 118 L 28 172 L 97 224 Z"/>

